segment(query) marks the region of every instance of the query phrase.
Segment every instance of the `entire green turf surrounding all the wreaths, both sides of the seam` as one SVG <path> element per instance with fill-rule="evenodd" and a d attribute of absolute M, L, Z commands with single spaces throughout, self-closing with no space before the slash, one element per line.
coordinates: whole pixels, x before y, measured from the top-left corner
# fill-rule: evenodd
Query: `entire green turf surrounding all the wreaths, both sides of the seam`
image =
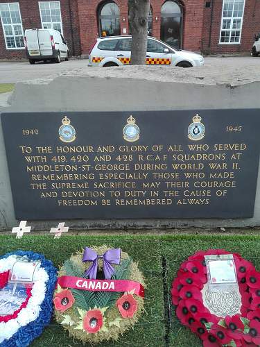
<path fill-rule="evenodd" d="M 163 235 L 163 236 L 50 236 L 25 235 L 23 239 L 0 235 L 0 254 L 17 249 L 44 253 L 46 258 L 60 266 L 64 260 L 85 246 L 120 247 L 139 263 L 147 279 L 146 313 L 133 330 L 126 332 L 116 343 L 104 347 L 201 347 L 200 340 L 176 319 L 171 303 L 171 282 L 181 262 L 199 250 L 225 248 L 240 253 L 260 270 L 260 237 L 243 235 Z M 164 266 L 163 266 L 164 264 Z M 164 290 L 165 289 L 165 290 Z M 168 312 L 170 309 L 170 312 Z M 169 319 L 166 319 L 169 313 Z M 37 346 L 83 346 L 69 338 L 55 321 L 33 343 Z"/>

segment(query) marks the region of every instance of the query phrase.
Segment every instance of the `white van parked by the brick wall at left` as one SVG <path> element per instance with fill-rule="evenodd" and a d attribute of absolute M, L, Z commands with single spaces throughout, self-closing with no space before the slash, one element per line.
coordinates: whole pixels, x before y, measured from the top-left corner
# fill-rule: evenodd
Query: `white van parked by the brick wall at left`
<path fill-rule="evenodd" d="M 30 64 L 40 60 L 69 60 L 67 42 L 60 31 L 53 29 L 27 29 L 24 44 Z"/>

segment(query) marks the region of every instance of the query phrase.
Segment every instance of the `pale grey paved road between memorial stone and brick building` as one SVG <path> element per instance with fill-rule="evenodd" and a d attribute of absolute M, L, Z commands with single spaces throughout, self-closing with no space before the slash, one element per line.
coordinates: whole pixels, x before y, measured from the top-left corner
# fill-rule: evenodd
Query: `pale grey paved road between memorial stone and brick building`
<path fill-rule="evenodd" d="M 248 66 L 259 68 L 260 57 L 209 57 L 205 59 L 205 62 L 207 66 L 223 67 L 224 70 L 234 67 L 234 65 L 238 69 Z M 77 68 L 91 69 L 91 67 L 87 67 L 87 64 L 87 59 L 69 60 L 69 62 L 60 64 L 38 62 L 35 65 L 30 65 L 28 62 L 0 62 L 0 83 L 17 83 L 33 78 L 44 78 Z"/>

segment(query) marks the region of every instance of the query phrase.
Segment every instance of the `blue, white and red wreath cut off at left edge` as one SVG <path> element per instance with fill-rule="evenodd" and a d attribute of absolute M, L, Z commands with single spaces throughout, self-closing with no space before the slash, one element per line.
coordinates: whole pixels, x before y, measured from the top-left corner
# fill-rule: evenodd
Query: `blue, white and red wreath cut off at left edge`
<path fill-rule="evenodd" d="M 34 269 L 30 282 L 17 270 L 21 266 L 24 276 L 27 265 Z M 41 254 L 16 251 L 0 257 L 0 346 L 28 346 L 41 335 L 51 321 L 56 279 L 55 267 Z"/>

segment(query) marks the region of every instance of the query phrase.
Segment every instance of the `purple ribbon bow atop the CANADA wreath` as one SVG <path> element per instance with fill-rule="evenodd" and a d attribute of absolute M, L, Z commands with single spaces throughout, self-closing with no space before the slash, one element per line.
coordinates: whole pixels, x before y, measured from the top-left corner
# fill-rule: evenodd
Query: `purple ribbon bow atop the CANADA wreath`
<path fill-rule="evenodd" d="M 89 266 L 89 269 L 85 271 L 86 276 L 89 276 L 90 280 L 96 279 L 96 273 L 98 271 L 98 258 L 103 258 L 103 271 L 106 280 L 110 280 L 114 273 L 114 267 L 111 264 L 120 264 L 120 248 L 112 248 L 106 251 L 103 255 L 97 255 L 97 253 L 89 247 L 85 248 L 83 254 L 83 262 L 93 262 Z"/>

